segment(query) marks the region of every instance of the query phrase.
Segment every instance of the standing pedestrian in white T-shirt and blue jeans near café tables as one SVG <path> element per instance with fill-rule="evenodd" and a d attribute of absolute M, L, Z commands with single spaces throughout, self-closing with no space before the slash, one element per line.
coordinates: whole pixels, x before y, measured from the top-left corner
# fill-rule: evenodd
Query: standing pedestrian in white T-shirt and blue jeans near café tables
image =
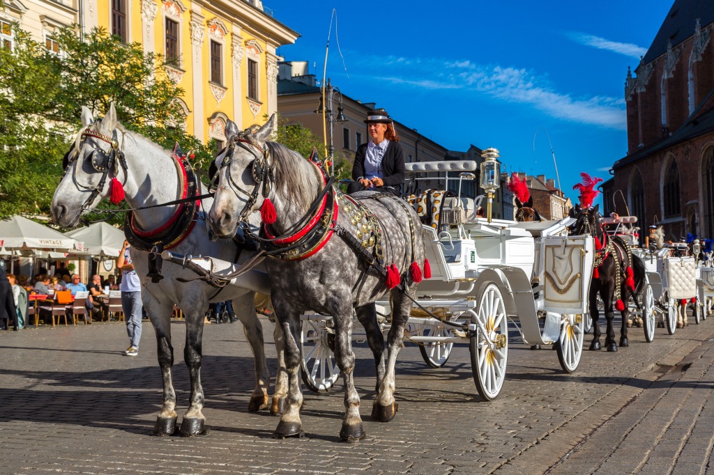
<path fill-rule="evenodd" d="M 121 270 L 121 308 L 124 310 L 126 333 L 129 334 L 129 348 L 124 353 L 126 356 L 136 356 L 139 354 L 141 339 L 141 280 L 131 261 L 129 241 L 124 241 L 121 247 L 116 268 Z"/>

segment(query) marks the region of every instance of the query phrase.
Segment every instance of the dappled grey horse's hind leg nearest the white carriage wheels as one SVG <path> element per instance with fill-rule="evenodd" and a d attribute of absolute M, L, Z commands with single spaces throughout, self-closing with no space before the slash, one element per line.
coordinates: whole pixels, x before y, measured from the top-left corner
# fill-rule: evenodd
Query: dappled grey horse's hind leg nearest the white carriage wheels
<path fill-rule="evenodd" d="M 380 422 L 391 421 L 399 409 L 394 401 L 394 366 L 404 340 L 404 327 L 411 312 L 411 300 L 405 297 L 405 292 L 393 290 L 391 297 L 392 325 L 387 334 L 387 367 L 372 408 L 372 418 Z"/>

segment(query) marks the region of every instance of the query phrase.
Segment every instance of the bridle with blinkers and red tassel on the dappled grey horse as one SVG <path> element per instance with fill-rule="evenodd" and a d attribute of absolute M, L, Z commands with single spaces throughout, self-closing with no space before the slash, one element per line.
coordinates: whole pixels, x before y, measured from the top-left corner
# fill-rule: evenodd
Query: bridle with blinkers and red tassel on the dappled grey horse
<path fill-rule="evenodd" d="M 251 161 L 251 164 L 248 165 L 251 168 L 251 175 L 253 176 L 253 181 L 256 182 L 256 185 L 253 186 L 253 190 L 251 191 L 251 193 L 244 191 L 243 188 L 241 188 L 241 186 L 236 183 L 236 180 L 233 180 L 233 175 L 231 174 L 231 163 L 233 162 L 233 152 L 235 151 L 236 145 L 240 146 L 241 148 L 244 148 L 245 150 L 248 150 L 248 152 L 255 157 Z M 257 150 L 258 153 L 255 153 L 253 149 Z M 273 183 L 275 183 L 275 173 L 273 172 L 273 166 L 268 163 L 270 150 L 268 149 L 268 147 L 263 148 L 259 143 L 254 140 L 251 140 L 250 135 L 248 133 L 243 133 L 240 136 L 235 136 L 231 138 L 231 141 L 228 143 L 224 150 L 225 155 L 223 155 L 221 165 L 218 167 L 216 175 L 213 175 L 213 178 L 211 179 L 211 189 L 214 187 L 214 183 L 218 179 L 218 175 L 221 174 L 221 170 L 227 167 L 228 169 L 226 170 L 226 177 L 228 178 L 228 181 L 231 184 L 229 188 L 233 190 L 233 193 L 235 193 L 238 198 L 241 197 L 238 192 L 248 196 L 248 203 L 246 203 L 246 205 L 243 207 L 243 210 L 241 210 L 241 213 L 238 215 L 238 222 L 243 223 L 248 218 L 248 215 L 251 214 L 251 209 L 256 204 L 256 200 L 258 199 L 258 193 L 261 193 L 261 188 L 263 198 L 267 198 L 271 192 Z"/>

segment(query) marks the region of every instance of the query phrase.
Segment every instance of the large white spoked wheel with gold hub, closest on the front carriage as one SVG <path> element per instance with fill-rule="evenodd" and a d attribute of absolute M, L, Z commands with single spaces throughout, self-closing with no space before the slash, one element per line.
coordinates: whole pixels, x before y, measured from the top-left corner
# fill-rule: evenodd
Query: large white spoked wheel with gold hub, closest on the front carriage
<path fill-rule="evenodd" d="M 488 284 L 478 300 L 478 308 L 470 312 L 471 322 L 478 325 L 469 344 L 473 381 L 478 394 L 493 401 L 503 387 L 508 362 L 508 319 L 498 286 Z"/>

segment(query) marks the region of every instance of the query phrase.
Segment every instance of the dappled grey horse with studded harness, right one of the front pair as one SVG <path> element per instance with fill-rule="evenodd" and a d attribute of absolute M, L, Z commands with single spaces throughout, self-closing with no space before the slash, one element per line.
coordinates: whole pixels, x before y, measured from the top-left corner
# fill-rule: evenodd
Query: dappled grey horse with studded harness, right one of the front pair
<path fill-rule="evenodd" d="M 256 133 L 239 133 L 228 122 L 228 145 L 216 157 L 218 188 L 209 221 L 216 234 L 230 236 L 246 216 L 261 210 L 263 228 L 256 238 L 268 255 L 265 265 L 273 307 L 285 334 L 289 379 L 287 407 L 276 436 L 302 434 L 298 333 L 301 314 L 313 311 L 334 319 L 334 351 L 345 382 L 340 437 L 356 441 L 365 431 L 353 382 L 353 310 L 365 327 L 376 363 L 372 417 L 387 422 L 397 410 L 394 364 L 411 312 L 407 294 L 416 292 L 424 264 L 421 223 L 413 208 L 393 195 L 353 195 L 359 200 L 342 195 L 314 154 L 306 160 L 269 142 L 275 131 L 275 115 Z M 387 293 L 392 317 L 385 364 L 374 302 Z"/>

